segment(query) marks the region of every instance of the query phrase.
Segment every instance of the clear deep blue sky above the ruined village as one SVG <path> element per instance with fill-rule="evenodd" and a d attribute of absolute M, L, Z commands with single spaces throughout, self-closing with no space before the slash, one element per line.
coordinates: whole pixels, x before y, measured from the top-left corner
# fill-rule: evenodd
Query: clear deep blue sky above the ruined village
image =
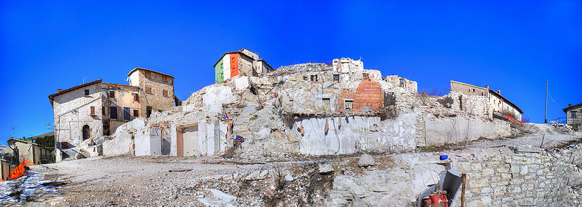
<path fill-rule="evenodd" d="M 522 1 L 523 2 L 523 1 Z M 48 132 L 48 95 L 126 83 L 141 67 L 176 77 L 186 99 L 214 81 L 224 52 L 271 66 L 362 57 L 418 88 L 489 85 L 543 122 L 582 103 L 581 1 L 0 1 L 0 144 Z"/>

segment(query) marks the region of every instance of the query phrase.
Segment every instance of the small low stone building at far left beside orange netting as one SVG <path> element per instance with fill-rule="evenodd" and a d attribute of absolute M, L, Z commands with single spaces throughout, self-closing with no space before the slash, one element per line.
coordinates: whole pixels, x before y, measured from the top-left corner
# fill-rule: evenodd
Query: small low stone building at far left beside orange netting
<path fill-rule="evenodd" d="M 19 163 L 24 158 L 26 161 L 32 161 L 34 164 L 48 164 L 52 162 L 52 150 L 24 139 L 10 138 L 7 140 L 8 146 L 12 148 L 11 157 L 16 158 Z"/>

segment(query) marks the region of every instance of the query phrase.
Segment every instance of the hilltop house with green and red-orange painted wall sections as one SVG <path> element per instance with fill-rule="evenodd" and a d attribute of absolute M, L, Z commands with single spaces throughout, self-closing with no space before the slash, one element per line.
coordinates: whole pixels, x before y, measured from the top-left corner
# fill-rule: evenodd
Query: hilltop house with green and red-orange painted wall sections
<path fill-rule="evenodd" d="M 243 48 L 235 52 L 225 52 L 220 59 L 214 63 L 215 82 L 222 83 L 227 79 L 237 76 L 252 76 L 273 72 L 274 69 L 263 59 L 260 59 L 255 52 Z"/>

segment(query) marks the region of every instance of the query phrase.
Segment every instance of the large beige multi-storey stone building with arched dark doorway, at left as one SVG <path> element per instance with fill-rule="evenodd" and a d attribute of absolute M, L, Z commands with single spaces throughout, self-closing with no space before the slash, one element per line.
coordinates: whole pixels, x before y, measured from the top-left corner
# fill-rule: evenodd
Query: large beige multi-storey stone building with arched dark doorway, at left
<path fill-rule="evenodd" d="M 114 134 L 128 121 L 179 105 L 173 76 L 144 68 L 127 76 L 130 85 L 98 79 L 48 96 L 54 112 L 56 161 L 99 155 L 100 137 Z"/>

